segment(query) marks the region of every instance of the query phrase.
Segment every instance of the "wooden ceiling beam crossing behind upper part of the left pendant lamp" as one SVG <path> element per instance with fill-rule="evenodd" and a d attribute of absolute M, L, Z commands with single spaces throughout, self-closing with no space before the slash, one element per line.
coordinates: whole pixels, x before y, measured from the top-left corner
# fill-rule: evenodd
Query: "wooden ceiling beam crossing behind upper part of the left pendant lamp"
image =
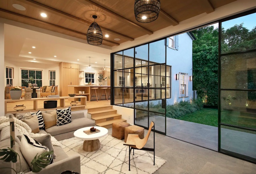
<path fill-rule="evenodd" d="M 32 1 L 32 0 L 17 0 L 17 1 L 22 2 L 22 3 L 24 3 L 24 4 L 27 4 L 27 5 L 30 5 L 30 6 L 33 6 L 33 7 L 35 7 L 35 8 L 42 9 L 42 10 L 47 11 L 47 12 L 49 12 L 49 13 L 52 13 L 52 14 L 61 16 L 61 17 L 63 17 L 63 18 L 72 20 L 72 21 L 74 21 L 74 22 L 79 22 L 80 24 L 88 24 L 88 25 L 91 25 L 91 24 L 92 24 L 92 23 L 89 22 L 89 21 L 86 21 L 86 20 L 83 20 L 83 19 L 81 19 L 81 18 L 75 17 L 75 16 L 70 15 L 70 14 L 68 14 L 68 13 L 65 13 L 65 12 L 63 12 L 63 11 L 59 11 L 59 10 L 57 10 L 57 9 L 55 9 L 55 8 L 51 8 L 51 7 L 46 6 L 46 5 L 44 5 L 44 4 L 40 4 L 40 3 L 36 2 L 36 1 Z M 129 40 L 129 41 L 134 41 L 133 38 L 131 38 L 131 37 L 129 37 L 129 36 L 126 36 L 126 35 L 124 35 L 124 34 L 121 34 L 121 33 L 115 32 L 115 31 L 112 31 L 112 30 L 107 29 L 107 28 L 104 28 L 104 27 L 100 27 L 100 28 L 101 28 L 103 31 L 105 30 L 105 31 L 107 31 L 107 32 L 109 32 L 109 33 L 116 34 L 116 35 L 120 36 L 120 37 L 123 38 L 123 39 L 127 39 L 127 40 Z"/>

